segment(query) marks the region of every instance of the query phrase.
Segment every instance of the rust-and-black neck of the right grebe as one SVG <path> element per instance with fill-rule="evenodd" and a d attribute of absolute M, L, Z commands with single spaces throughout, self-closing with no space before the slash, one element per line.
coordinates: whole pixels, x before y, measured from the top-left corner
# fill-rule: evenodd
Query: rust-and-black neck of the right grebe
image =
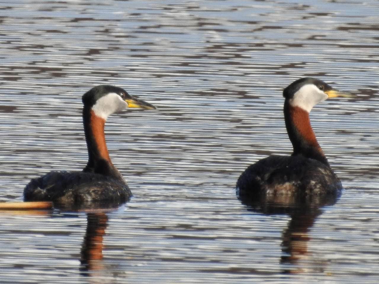
<path fill-rule="evenodd" d="M 302 155 L 329 165 L 310 124 L 309 112 L 284 103 L 284 119 L 293 146 L 293 156 Z"/>

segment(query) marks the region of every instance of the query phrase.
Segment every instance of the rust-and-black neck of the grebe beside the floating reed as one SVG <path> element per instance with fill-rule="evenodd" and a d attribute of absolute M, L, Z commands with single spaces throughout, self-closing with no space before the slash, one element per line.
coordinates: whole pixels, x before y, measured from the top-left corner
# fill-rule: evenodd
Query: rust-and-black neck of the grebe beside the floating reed
<path fill-rule="evenodd" d="M 112 164 L 106 147 L 105 119 L 97 116 L 92 109 L 84 108 L 83 125 L 88 149 L 88 163 L 83 172 L 99 173 L 123 180 L 121 173 Z"/>

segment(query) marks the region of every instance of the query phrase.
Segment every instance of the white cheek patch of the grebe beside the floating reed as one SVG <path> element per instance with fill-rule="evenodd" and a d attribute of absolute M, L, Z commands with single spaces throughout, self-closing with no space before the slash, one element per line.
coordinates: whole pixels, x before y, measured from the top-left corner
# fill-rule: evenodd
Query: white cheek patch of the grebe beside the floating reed
<path fill-rule="evenodd" d="M 96 101 L 92 106 L 92 111 L 94 111 L 96 116 L 106 120 L 109 115 L 124 110 L 127 105 L 119 95 L 109 93 Z"/>

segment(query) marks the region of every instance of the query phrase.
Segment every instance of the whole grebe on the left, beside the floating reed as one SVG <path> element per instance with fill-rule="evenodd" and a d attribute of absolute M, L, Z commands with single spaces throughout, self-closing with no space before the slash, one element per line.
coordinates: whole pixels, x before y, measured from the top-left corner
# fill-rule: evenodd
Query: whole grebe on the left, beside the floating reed
<path fill-rule="evenodd" d="M 155 109 L 132 97 L 124 89 L 99 85 L 83 97 L 83 125 L 88 163 L 81 172 L 52 171 L 33 178 L 24 189 L 24 201 L 53 201 L 58 208 L 105 208 L 128 201 L 132 192 L 112 164 L 106 147 L 104 126 L 107 117 L 127 107 Z"/>

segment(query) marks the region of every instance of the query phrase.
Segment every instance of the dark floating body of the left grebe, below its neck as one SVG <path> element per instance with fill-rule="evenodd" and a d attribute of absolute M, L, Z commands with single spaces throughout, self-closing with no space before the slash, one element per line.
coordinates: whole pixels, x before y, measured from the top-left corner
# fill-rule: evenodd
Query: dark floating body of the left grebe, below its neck
<path fill-rule="evenodd" d="M 31 179 L 25 186 L 25 201 L 53 201 L 57 208 L 113 208 L 132 196 L 121 179 L 90 172 L 52 171 Z"/>

